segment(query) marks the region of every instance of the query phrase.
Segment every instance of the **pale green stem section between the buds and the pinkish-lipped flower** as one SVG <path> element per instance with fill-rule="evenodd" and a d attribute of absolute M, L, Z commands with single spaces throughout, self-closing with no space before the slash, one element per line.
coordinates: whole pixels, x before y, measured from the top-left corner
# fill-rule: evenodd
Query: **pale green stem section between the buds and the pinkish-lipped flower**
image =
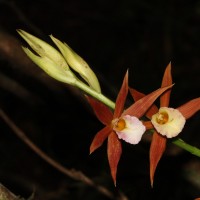
<path fill-rule="evenodd" d="M 75 86 L 78 87 L 79 89 L 83 90 L 87 94 L 93 96 L 94 98 L 98 99 L 99 101 L 101 101 L 102 103 L 104 103 L 105 105 L 110 107 L 111 109 L 113 109 L 113 110 L 115 109 L 115 103 L 113 101 L 111 101 L 109 98 L 104 96 L 102 93 L 96 92 L 91 87 L 84 84 L 83 82 L 77 80 L 75 82 Z"/>

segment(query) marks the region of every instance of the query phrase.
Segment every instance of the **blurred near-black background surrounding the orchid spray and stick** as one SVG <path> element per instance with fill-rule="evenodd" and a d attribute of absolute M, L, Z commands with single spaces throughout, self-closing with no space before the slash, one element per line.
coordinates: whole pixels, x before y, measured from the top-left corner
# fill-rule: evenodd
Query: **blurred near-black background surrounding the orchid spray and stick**
<path fill-rule="evenodd" d="M 51 79 L 21 51 L 16 29 L 52 44 L 53 34 L 68 43 L 97 74 L 104 94 L 116 98 L 129 69 L 129 84 L 148 93 L 161 84 L 172 62 L 175 86 L 171 106 L 199 96 L 200 1 L 0 0 L 0 106 L 43 151 L 80 170 L 94 182 L 128 199 L 188 200 L 200 197 L 200 160 L 169 143 L 149 181 L 149 141 L 123 143 L 117 188 L 106 144 L 89 156 L 102 128 L 81 93 Z M 200 147 L 200 113 L 188 120 L 181 138 Z M 25 198 L 107 199 L 66 177 L 27 147 L 0 121 L 0 182 Z"/>

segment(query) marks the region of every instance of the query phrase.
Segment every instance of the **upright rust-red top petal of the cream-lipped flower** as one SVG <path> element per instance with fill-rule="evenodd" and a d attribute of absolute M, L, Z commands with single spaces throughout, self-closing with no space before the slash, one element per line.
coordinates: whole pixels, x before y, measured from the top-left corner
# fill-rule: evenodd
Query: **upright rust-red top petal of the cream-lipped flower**
<path fill-rule="evenodd" d="M 172 84 L 172 75 L 171 75 L 171 62 L 167 65 L 165 73 L 162 80 L 161 87 L 166 87 Z M 160 107 L 168 107 L 170 100 L 171 89 L 167 90 L 160 96 Z"/>

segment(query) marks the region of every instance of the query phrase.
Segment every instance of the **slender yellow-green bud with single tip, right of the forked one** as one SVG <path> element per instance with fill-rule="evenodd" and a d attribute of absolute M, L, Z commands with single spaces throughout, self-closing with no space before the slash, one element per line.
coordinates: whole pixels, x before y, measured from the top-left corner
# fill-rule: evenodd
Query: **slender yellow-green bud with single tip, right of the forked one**
<path fill-rule="evenodd" d="M 85 60 L 76 54 L 66 43 L 62 43 L 52 35 L 50 35 L 50 37 L 59 48 L 68 65 L 76 72 L 78 72 L 91 88 L 100 93 L 101 88 L 99 81 Z"/>

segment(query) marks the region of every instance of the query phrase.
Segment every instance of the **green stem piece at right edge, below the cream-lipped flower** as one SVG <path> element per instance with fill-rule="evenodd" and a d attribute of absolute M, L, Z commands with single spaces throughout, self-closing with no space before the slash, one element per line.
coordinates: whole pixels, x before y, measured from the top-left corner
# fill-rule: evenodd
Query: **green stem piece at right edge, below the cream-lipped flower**
<path fill-rule="evenodd" d="M 182 139 L 177 138 L 172 141 L 173 144 L 181 147 L 182 149 L 190 152 L 191 154 L 200 157 L 200 149 L 190 144 L 185 143 Z"/>

